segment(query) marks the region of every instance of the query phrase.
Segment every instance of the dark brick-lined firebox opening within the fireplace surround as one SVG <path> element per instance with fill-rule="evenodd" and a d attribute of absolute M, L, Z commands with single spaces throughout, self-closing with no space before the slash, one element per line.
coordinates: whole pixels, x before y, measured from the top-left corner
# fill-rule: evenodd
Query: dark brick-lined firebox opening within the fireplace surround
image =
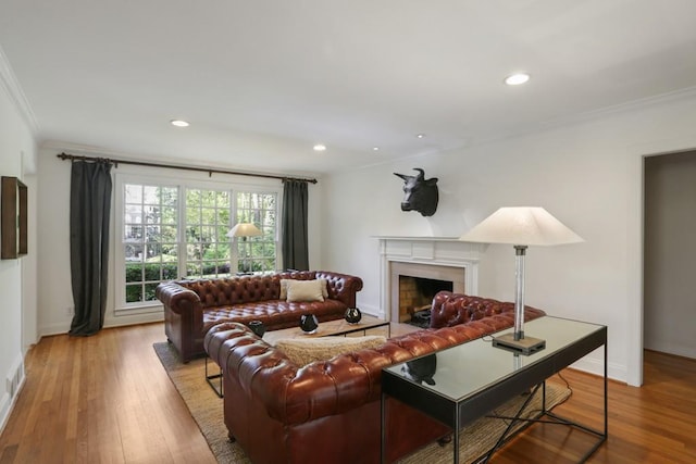
<path fill-rule="evenodd" d="M 399 322 L 430 327 L 431 305 L 438 291 L 452 291 L 451 280 L 399 276 Z"/>

